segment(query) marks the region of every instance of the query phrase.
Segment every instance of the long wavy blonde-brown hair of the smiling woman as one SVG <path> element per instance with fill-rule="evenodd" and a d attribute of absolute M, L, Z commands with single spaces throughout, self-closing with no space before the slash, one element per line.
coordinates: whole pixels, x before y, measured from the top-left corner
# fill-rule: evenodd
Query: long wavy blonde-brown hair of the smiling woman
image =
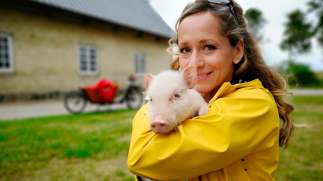
<path fill-rule="evenodd" d="M 244 40 L 244 55 L 241 61 L 235 64 L 233 78 L 253 76 L 258 78 L 263 86 L 271 92 L 276 101 L 281 122 L 279 146 L 287 148 L 294 130 L 292 119 L 289 117 L 294 107 L 287 103 L 285 99 L 292 93 L 287 92 L 287 82 L 284 77 L 272 67 L 266 65 L 254 37 L 246 29 L 247 22 L 241 6 L 234 2 L 234 8 L 238 24 L 226 6 L 209 3 L 207 0 L 197 0 L 194 3 L 189 3 L 176 23 L 176 31 L 178 31 L 178 27 L 185 17 L 198 12 L 211 12 L 221 19 L 220 32 L 229 38 L 232 46 L 236 46 L 240 39 Z M 176 49 L 178 40 L 171 39 L 169 44 L 170 47 L 167 51 L 173 55 L 178 55 L 178 49 Z M 172 61 L 170 67 L 173 70 L 180 68 L 178 57 Z"/>

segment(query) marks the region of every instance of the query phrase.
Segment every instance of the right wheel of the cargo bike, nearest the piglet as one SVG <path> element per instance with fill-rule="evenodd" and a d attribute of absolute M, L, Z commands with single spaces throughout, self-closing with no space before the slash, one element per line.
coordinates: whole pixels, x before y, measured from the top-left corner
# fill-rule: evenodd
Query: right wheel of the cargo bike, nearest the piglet
<path fill-rule="evenodd" d="M 139 89 L 130 89 L 126 98 L 129 109 L 137 109 L 142 106 L 143 94 Z"/>

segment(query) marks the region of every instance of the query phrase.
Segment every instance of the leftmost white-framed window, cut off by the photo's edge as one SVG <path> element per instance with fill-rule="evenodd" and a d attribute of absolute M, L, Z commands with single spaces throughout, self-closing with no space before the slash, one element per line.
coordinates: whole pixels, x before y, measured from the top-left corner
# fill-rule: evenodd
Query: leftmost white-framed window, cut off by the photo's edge
<path fill-rule="evenodd" d="M 14 71 L 12 58 L 12 38 L 10 35 L 0 33 L 0 72 Z"/>

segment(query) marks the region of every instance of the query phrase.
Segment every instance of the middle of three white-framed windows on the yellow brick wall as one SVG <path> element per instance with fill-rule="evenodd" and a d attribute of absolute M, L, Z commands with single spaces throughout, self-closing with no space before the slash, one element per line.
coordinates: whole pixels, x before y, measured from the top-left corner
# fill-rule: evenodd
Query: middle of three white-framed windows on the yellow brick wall
<path fill-rule="evenodd" d="M 94 46 L 81 45 L 79 47 L 80 74 L 98 74 L 98 50 Z"/>

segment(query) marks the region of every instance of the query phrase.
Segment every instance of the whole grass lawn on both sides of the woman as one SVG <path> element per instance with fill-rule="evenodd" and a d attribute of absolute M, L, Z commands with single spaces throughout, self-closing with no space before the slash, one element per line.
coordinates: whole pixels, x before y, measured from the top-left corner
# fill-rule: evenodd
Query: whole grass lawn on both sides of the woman
<path fill-rule="evenodd" d="M 280 149 L 278 181 L 323 180 L 323 96 L 294 96 L 296 128 Z M 133 181 L 127 168 L 136 110 L 0 121 L 0 181 Z"/>

